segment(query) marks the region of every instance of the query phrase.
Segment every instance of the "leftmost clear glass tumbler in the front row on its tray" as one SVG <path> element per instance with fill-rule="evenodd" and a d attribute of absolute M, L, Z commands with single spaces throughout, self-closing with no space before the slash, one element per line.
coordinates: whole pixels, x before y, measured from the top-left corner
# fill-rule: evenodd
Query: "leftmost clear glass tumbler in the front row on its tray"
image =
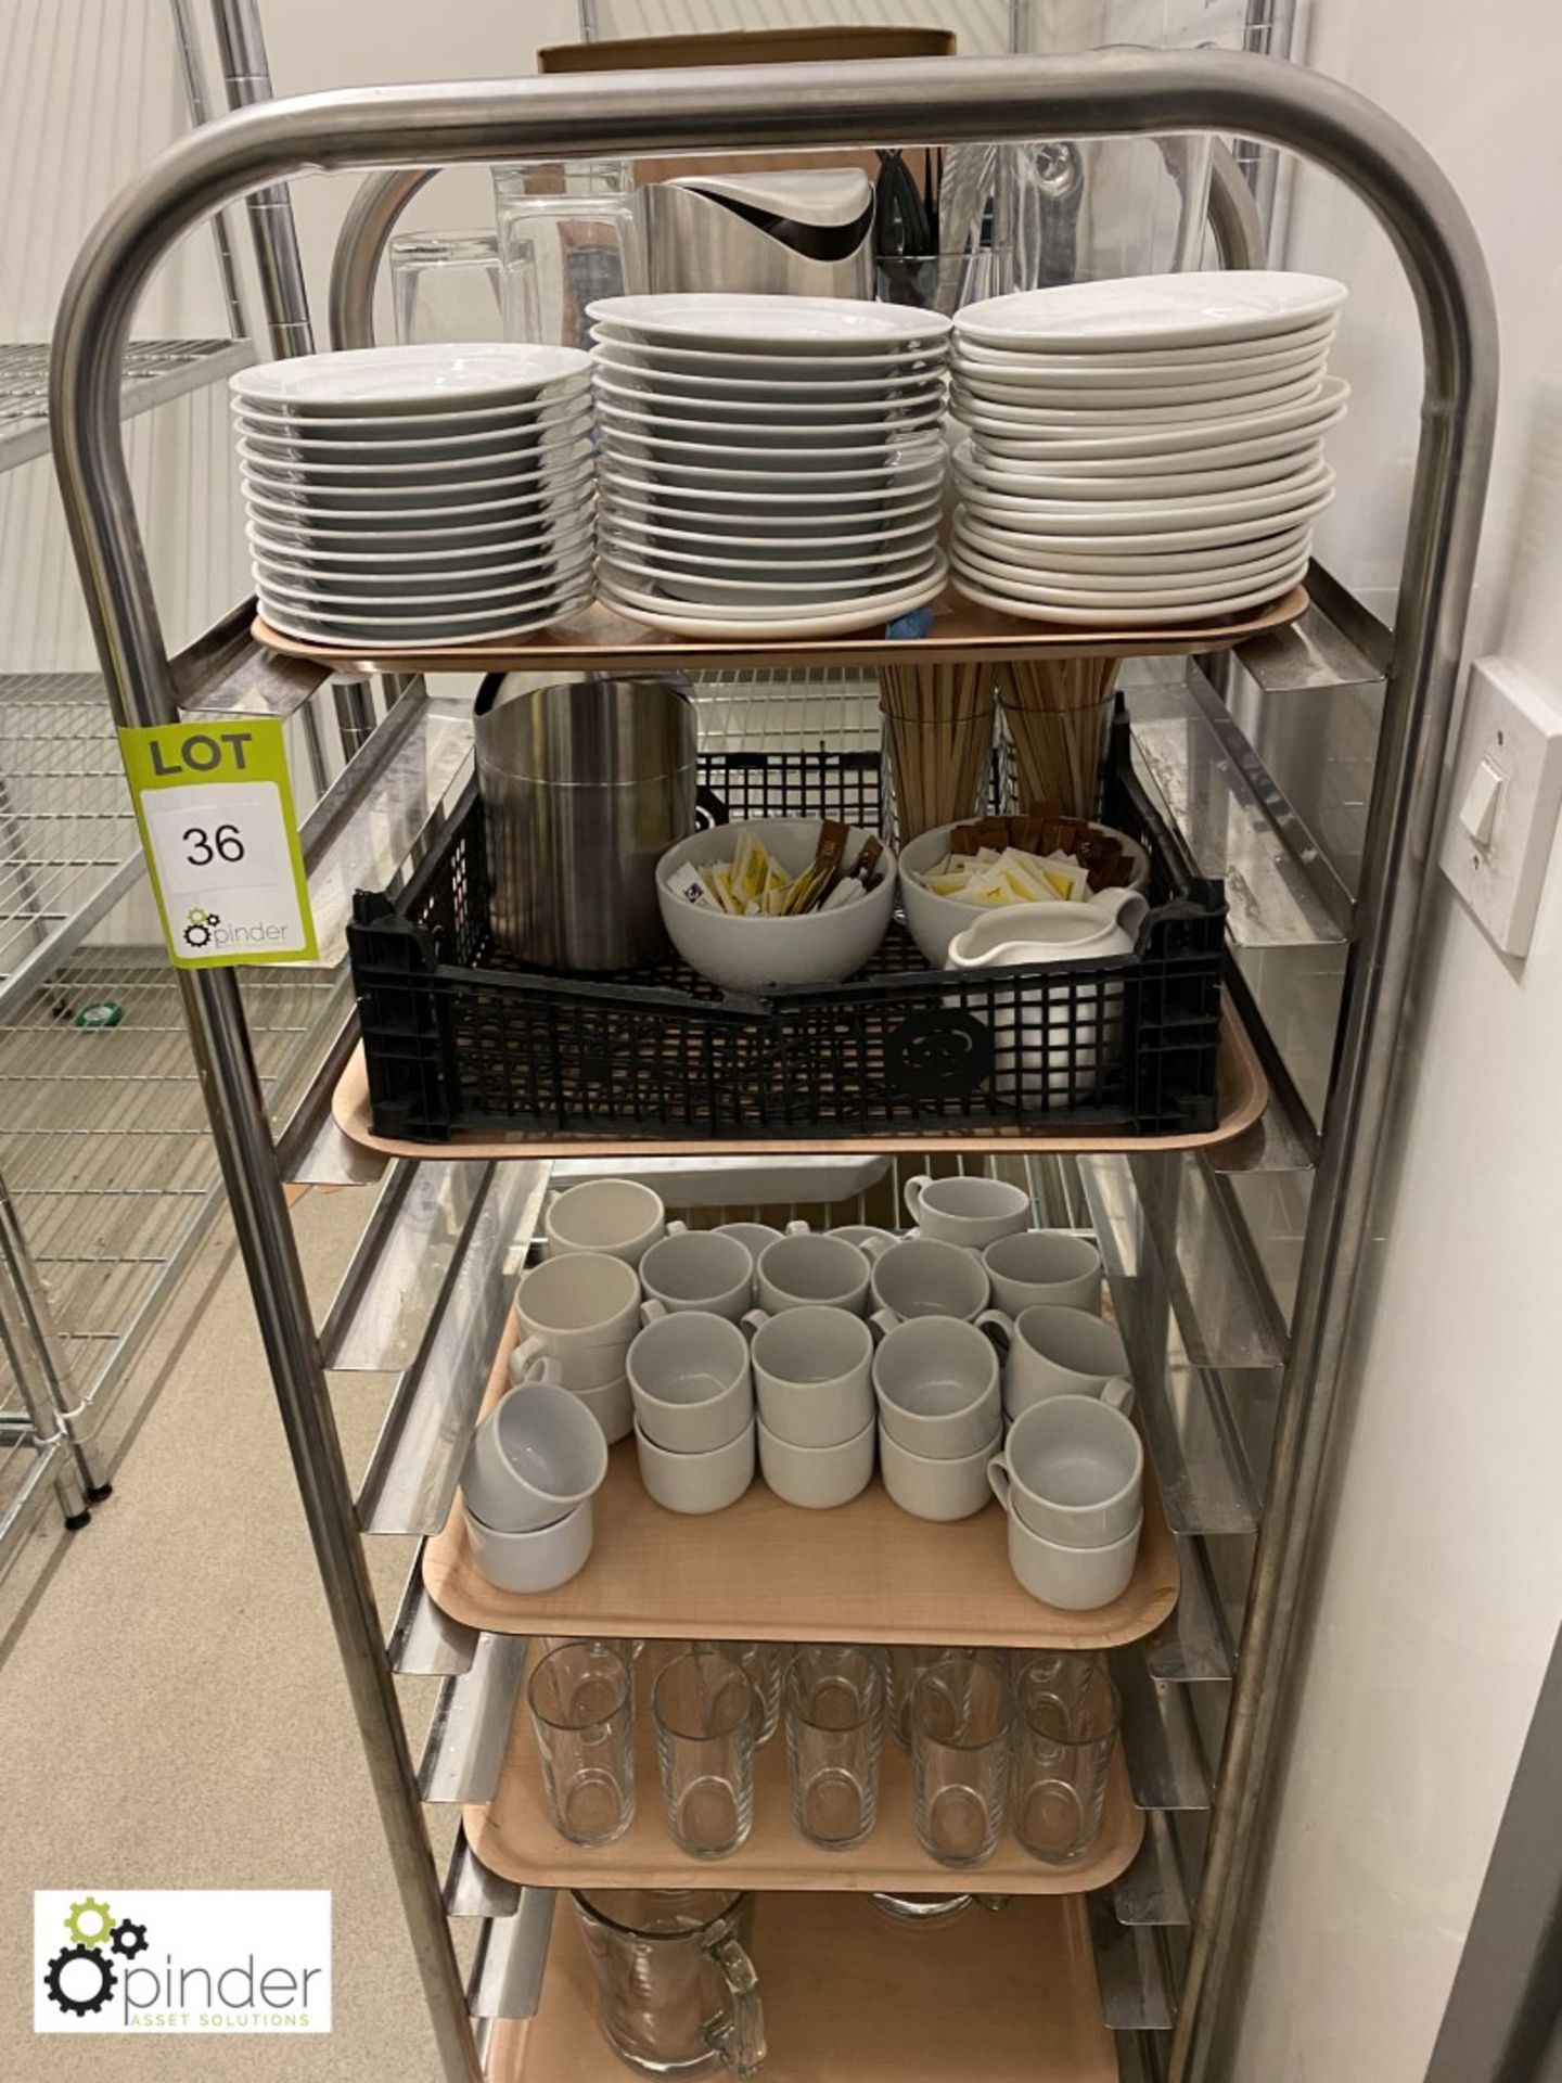
<path fill-rule="evenodd" d="M 606 1641 L 550 1650 L 527 1685 L 541 1783 L 571 1843 L 612 1843 L 635 1821 L 635 1693 Z"/>

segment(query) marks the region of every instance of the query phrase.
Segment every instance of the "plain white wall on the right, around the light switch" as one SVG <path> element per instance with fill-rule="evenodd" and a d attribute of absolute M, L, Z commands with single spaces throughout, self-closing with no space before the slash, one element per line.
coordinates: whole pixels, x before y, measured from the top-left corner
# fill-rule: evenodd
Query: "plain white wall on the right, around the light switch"
<path fill-rule="evenodd" d="M 1410 125 L 1487 250 L 1504 404 L 1472 627 L 1562 692 L 1562 17 L 1316 0 L 1310 56 Z M 1418 344 L 1383 235 L 1300 185 L 1287 260 L 1343 275 L 1322 552 L 1387 612 Z M 1527 962 L 1439 885 L 1414 981 L 1293 1739 L 1231 2083 L 1416 2083 L 1562 1618 L 1562 873 Z"/>

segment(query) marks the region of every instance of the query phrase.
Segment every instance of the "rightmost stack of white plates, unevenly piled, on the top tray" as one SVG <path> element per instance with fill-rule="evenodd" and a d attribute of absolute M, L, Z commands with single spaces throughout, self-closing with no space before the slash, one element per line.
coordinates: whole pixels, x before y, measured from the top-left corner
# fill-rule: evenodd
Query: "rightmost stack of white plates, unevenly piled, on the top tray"
<path fill-rule="evenodd" d="M 1308 569 L 1333 498 L 1325 373 L 1343 283 L 1137 275 L 954 319 L 962 594 L 1108 629 L 1239 614 Z"/>

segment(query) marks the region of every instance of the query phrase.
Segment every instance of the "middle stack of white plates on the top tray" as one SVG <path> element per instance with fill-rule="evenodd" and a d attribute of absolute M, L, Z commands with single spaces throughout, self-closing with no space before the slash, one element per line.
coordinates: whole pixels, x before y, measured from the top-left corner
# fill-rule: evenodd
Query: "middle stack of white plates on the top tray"
<path fill-rule="evenodd" d="M 823 296 L 610 296 L 598 589 L 685 635 L 831 635 L 948 575 L 950 321 Z"/>

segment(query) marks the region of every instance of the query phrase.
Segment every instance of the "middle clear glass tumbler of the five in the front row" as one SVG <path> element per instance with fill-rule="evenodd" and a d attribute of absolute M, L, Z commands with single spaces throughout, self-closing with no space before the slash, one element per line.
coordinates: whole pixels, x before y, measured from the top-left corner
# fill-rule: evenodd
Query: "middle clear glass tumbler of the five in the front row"
<path fill-rule="evenodd" d="M 879 1818 L 885 1675 L 875 1650 L 798 1646 L 785 1679 L 791 1821 L 850 1852 Z"/>

